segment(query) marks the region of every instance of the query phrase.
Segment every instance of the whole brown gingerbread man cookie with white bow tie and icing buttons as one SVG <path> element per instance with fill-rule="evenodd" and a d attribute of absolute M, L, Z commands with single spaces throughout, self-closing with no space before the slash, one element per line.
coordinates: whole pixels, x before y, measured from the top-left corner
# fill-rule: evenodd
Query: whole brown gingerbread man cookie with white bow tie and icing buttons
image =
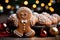
<path fill-rule="evenodd" d="M 19 37 L 23 35 L 27 37 L 32 37 L 35 35 L 35 31 L 31 29 L 31 17 L 32 11 L 27 7 L 21 7 L 16 12 L 18 19 L 18 27 L 14 30 L 14 34 Z"/>

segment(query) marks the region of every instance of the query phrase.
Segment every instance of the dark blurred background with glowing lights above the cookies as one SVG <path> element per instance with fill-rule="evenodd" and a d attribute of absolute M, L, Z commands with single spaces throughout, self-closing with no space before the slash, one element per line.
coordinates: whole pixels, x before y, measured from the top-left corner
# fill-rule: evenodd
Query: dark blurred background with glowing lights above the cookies
<path fill-rule="evenodd" d="M 60 15 L 60 0 L 0 0 L 0 23 L 6 22 L 9 15 L 23 6 L 29 7 L 32 12 Z"/>

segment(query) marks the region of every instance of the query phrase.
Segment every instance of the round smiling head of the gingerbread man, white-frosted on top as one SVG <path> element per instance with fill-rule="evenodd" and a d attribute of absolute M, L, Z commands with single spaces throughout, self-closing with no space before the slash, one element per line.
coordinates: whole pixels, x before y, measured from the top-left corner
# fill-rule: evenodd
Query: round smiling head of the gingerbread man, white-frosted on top
<path fill-rule="evenodd" d="M 27 7 L 19 8 L 16 13 L 19 19 L 30 19 L 32 15 L 32 11 Z"/>

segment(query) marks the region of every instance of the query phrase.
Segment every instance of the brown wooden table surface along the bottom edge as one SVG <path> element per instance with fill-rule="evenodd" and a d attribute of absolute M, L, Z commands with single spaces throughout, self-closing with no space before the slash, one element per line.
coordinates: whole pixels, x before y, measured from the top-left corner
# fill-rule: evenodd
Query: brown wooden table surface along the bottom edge
<path fill-rule="evenodd" d="M 60 40 L 60 35 L 57 35 L 56 37 L 32 37 L 32 38 L 4 37 L 0 38 L 0 40 Z"/>

